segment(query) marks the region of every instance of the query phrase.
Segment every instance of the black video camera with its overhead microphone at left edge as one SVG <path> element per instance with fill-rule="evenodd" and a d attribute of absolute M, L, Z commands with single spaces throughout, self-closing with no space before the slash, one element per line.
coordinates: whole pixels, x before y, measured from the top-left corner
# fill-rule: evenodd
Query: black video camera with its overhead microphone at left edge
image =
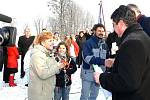
<path fill-rule="evenodd" d="M 0 21 L 11 23 L 12 18 L 0 14 Z M 4 26 L 0 28 L 0 46 L 10 46 L 15 44 L 17 35 L 17 28 L 12 26 Z"/>

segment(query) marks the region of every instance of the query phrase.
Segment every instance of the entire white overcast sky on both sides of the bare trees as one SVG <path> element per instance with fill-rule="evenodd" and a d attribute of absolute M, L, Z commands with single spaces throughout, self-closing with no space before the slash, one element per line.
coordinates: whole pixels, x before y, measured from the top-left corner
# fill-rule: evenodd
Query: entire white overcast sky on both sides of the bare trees
<path fill-rule="evenodd" d="M 33 26 L 33 19 L 37 16 L 47 17 L 48 0 L 0 0 L 0 13 L 16 18 L 16 26 L 18 32 L 23 32 L 23 26 L 29 24 Z M 74 0 L 83 9 L 89 10 L 95 18 L 95 23 L 98 21 L 99 2 L 100 0 Z M 102 0 L 104 17 L 107 30 L 112 30 L 112 22 L 110 15 L 119 7 L 119 5 L 127 5 L 128 3 L 135 3 L 139 6 L 142 13 L 150 16 L 149 0 Z M 19 33 L 20 34 L 20 33 Z"/>

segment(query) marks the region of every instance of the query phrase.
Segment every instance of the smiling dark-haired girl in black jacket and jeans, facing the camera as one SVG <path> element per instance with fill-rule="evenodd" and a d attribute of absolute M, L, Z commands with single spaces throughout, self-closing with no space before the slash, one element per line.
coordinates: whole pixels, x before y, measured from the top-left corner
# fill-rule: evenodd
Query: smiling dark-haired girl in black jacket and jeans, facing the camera
<path fill-rule="evenodd" d="M 69 92 L 72 84 L 71 74 L 77 70 L 76 63 L 69 56 L 68 48 L 65 42 L 60 42 L 56 49 L 55 59 L 57 62 L 66 61 L 66 67 L 56 74 L 56 87 L 54 100 L 69 100 Z"/>

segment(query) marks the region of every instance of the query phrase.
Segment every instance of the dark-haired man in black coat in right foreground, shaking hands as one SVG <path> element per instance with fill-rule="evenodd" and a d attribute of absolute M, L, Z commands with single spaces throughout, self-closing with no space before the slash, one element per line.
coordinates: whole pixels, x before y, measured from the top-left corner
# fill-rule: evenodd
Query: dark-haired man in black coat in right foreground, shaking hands
<path fill-rule="evenodd" d="M 150 38 L 127 6 L 117 8 L 111 19 L 121 44 L 115 60 L 105 61 L 112 71 L 95 73 L 95 81 L 112 92 L 112 100 L 150 100 Z"/>

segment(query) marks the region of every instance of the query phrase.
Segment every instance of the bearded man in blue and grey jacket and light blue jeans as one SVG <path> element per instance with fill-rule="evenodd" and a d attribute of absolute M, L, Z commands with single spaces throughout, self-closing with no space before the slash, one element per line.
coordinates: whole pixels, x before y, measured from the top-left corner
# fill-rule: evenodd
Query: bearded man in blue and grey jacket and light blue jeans
<path fill-rule="evenodd" d="M 102 24 L 95 24 L 94 35 L 83 45 L 83 66 L 81 69 L 82 90 L 80 100 L 96 100 L 99 93 L 99 86 L 93 79 L 93 66 L 98 65 L 105 70 L 104 61 L 107 54 L 107 45 L 103 36 L 105 27 Z"/>

